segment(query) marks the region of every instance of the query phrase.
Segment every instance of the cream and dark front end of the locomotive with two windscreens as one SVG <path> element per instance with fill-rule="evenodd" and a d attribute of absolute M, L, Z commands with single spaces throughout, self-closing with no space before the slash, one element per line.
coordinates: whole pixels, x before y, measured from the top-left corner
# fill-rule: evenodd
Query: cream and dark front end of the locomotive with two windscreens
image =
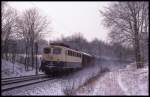
<path fill-rule="evenodd" d="M 60 46 L 50 46 L 43 50 L 41 61 L 41 70 L 44 72 L 58 72 L 63 70 L 65 59 L 63 55 L 63 48 Z"/>

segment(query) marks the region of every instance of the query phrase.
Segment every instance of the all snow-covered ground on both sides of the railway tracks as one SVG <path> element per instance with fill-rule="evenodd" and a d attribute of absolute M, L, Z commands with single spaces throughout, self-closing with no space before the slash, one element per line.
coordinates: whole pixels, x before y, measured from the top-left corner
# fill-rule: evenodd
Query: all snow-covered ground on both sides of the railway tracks
<path fill-rule="evenodd" d="M 12 63 L 5 60 L 2 63 L 2 77 L 35 74 L 35 70 L 25 72 L 24 66 L 18 63 L 13 74 Z M 110 72 L 82 86 L 106 67 Z M 96 61 L 96 65 L 68 76 L 3 92 L 2 95 L 148 95 L 148 67 L 139 70 L 126 67 L 127 63 Z"/>

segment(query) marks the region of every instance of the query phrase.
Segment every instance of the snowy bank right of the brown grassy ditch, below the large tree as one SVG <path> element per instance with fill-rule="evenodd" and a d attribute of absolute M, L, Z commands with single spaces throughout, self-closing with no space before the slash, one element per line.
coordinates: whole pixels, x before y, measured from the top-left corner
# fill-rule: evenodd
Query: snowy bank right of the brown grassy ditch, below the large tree
<path fill-rule="evenodd" d="M 76 90 L 76 95 L 148 95 L 148 67 L 120 69 L 108 72 L 87 86 Z"/>

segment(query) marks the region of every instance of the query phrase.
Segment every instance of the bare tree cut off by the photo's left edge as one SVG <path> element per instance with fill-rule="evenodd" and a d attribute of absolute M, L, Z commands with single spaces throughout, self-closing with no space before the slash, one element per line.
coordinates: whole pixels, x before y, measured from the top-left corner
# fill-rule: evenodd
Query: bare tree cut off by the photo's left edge
<path fill-rule="evenodd" d="M 1 46 L 2 53 L 5 52 L 6 59 L 8 57 L 8 40 L 14 36 L 16 30 L 17 11 L 11 8 L 7 2 L 2 2 L 2 32 Z M 1 54 L 3 57 L 3 54 Z"/>

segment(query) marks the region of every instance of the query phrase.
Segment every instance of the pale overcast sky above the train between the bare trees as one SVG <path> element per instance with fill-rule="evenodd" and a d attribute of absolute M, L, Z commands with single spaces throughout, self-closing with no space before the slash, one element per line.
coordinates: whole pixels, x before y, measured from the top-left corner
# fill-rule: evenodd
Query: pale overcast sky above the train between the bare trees
<path fill-rule="evenodd" d="M 107 41 L 108 30 L 104 28 L 98 10 L 103 10 L 109 2 L 9 2 L 9 5 L 19 12 L 37 7 L 41 14 L 47 16 L 53 28 L 47 40 L 81 32 L 88 41 L 94 38 Z"/>

